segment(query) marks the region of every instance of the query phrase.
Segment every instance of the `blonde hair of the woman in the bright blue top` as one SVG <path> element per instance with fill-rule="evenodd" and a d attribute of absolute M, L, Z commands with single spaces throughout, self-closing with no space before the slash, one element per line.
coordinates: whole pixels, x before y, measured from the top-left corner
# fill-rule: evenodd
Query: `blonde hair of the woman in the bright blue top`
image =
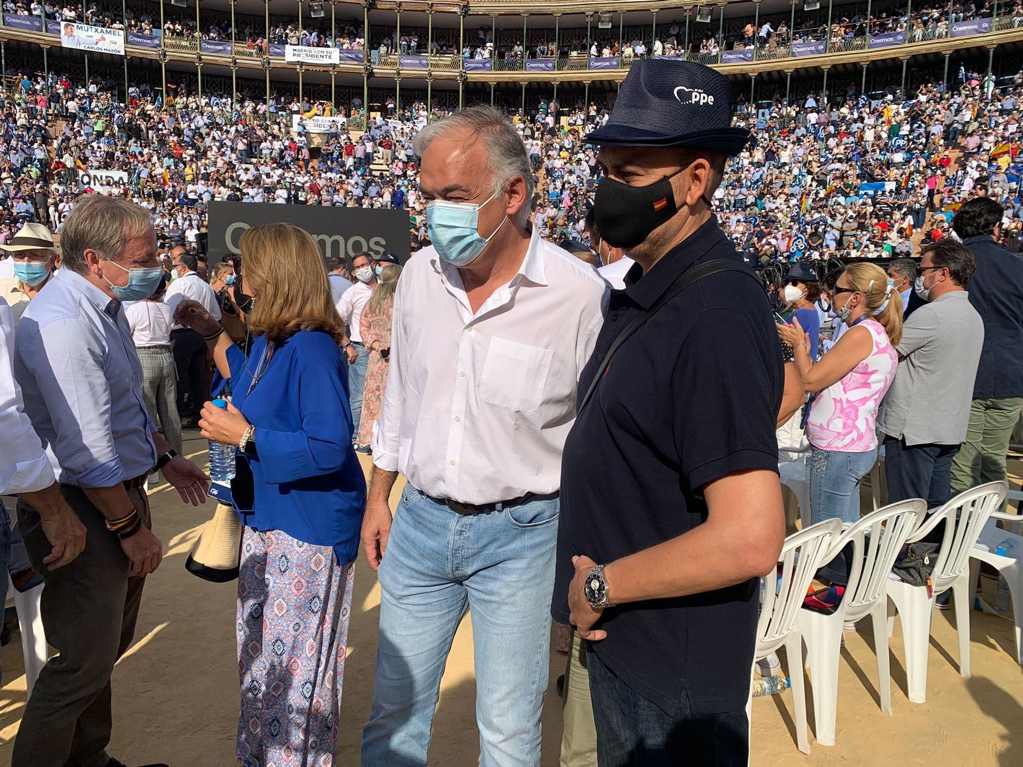
<path fill-rule="evenodd" d="M 261 224 L 239 240 L 244 283 L 256 300 L 249 329 L 270 341 L 299 330 L 322 330 L 341 344 L 344 325 L 330 296 L 323 257 L 309 232 L 291 224 Z"/>

